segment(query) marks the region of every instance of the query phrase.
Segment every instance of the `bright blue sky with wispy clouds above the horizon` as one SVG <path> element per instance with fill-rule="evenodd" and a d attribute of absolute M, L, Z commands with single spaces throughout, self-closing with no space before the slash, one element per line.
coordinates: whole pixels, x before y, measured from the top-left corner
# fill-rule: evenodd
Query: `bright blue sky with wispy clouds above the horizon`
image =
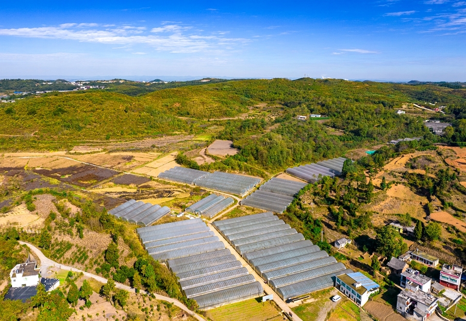
<path fill-rule="evenodd" d="M 461 0 L 4 1 L 0 78 L 466 81 L 465 40 Z"/>

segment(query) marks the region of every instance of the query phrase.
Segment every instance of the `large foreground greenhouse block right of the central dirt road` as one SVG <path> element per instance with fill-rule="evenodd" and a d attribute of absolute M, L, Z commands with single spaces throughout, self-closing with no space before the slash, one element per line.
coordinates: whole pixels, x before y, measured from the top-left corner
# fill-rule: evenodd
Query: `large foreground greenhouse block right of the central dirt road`
<path fill-rule="evenodd" d="M 335 276 L 352 272 L 271 212 L 213 226 L 283 300 L 333 287 Z"/>

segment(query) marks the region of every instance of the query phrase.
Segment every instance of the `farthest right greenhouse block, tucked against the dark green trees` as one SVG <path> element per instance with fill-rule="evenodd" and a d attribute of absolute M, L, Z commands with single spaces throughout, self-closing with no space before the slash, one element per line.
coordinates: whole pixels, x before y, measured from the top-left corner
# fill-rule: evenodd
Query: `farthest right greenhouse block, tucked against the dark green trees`
<path fill-rule="evenodd" d="M 286 172 L 306 182 L 315 183 L 323 176 L 334 177 L 341 175 L 345 161 L 346 158 L 338 157 L 317 162 L 316 164 L 288 168 Z"/>

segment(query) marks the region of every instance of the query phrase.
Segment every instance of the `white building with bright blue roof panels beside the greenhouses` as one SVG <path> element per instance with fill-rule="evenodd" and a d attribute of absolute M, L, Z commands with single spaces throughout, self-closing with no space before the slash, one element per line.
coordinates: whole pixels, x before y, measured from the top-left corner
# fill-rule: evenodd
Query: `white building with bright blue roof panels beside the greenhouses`
<path fill-rule="evenodd" d="M 338 275 L 335 287 L 349 297 L 358 306 L 363 306 L 372 293 L 379 291 L 380 286 L 361 272 Z"/>

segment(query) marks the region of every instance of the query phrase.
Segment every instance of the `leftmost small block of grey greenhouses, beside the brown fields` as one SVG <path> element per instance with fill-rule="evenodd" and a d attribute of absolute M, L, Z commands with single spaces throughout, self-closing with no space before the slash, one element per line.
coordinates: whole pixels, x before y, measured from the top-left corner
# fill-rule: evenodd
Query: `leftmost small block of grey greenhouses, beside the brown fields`
<path fill-rule="evenodd" d="M 161 207 L 160 205 L 130 200 L 108 211 L 108 213 L 130 223 L 149 226 L 169 214 L 170 209 L 166 206 Z"/>

